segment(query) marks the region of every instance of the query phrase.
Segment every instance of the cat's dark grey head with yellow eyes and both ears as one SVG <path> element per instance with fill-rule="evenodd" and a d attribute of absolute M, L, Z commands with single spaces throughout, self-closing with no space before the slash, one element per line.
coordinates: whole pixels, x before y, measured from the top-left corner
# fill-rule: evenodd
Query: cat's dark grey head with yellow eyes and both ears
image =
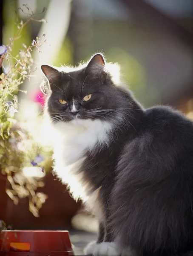
<path fill-rule="evenodd" d="M 128 100 L 117 89 L 101 54 L 87 65 L 68 71 L 41 66 L 49 82 L 48 113 L 53 122 L 120 119 Z"/>

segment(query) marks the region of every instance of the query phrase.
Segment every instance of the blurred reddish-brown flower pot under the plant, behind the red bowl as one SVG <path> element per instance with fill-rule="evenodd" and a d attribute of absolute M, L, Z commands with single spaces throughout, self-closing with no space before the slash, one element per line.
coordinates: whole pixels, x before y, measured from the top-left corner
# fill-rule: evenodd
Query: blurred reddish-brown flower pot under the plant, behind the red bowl
<path fill-rule="evenodd" d="M 37 192 L 48 195 L 36 218 L 29 211 L 28 198 L 20 199 L 18 205 L 6 194 L 6 176 L 0 176 L 0 219 L 14 230 L 64 230 L 71 226 L 71 218 L 76 214 L 80 203 L 76 203 L 68 194 L 66 187 L 52 175 L 44 177 L 45 187 Z M 3 209 L 3 211 L 2 211 Z"/>

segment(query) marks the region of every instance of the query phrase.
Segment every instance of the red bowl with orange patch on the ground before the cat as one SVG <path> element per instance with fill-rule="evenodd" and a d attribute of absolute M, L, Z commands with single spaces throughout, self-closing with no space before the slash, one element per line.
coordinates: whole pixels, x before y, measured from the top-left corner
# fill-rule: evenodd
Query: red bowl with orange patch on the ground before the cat
<path fill-rule="evenodd" d="M 5 230 L 0 256 L 74 256 L 68 231 Z"/>

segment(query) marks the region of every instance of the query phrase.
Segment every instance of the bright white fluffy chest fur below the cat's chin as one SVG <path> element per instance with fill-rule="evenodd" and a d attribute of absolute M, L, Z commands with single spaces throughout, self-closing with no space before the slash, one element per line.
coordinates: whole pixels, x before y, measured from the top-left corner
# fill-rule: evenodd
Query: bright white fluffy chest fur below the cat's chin
<path fill-rule="evenodd" d="M 113 124 L 101 120 L 58 122 L 54 125 L 54 171 L 67 184 L 75 199 L 88 200 L 89 181 L 82 184 L 78 170 L 85 160 L 85 151 L 93 151 L 97 145 L 108 145 Z"/>

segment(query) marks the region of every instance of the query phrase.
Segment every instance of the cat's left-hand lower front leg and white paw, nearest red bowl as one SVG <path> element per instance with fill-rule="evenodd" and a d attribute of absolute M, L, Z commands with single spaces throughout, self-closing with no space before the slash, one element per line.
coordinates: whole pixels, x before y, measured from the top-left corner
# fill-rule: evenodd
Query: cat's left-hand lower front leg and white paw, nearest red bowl
<path fill-rule="evenodd" d="M 98 238 L 97 241 L 92 241 L 90 242 L 84 250 L 84 253 L 86 255 L 94 255 L 94 250 L 97 247 L 97 244 L 100 244 L 104 241 L 105 237 L 105 227 L 102 222 L 99 223 L 99 233 L 98 233 Z"/>

